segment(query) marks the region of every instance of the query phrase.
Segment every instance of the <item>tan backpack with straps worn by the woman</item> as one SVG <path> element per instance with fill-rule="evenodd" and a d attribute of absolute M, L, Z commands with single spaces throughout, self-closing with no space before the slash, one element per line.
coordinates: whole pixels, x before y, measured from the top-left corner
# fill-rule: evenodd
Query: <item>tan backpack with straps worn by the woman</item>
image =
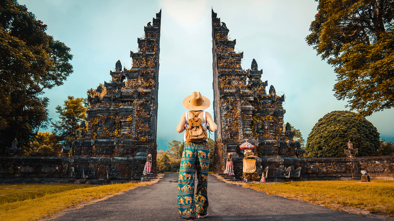
<path fill-rule="evenodd" d="M 207 130 L 201 125 L 203 120 L 199 118 L 201 111 L 196 114 L 193 113 L 193 117 L 188 119 L 189 127 L 185 132 L 186 142 L 198 143 L 207 140 Z"/>

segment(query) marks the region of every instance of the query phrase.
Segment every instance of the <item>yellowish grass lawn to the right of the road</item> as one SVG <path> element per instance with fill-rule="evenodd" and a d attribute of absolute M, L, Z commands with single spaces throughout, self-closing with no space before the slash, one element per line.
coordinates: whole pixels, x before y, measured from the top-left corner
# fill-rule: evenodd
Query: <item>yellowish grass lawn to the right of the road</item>
<path fill-rule="evenodd" d="M 394 181 L 301 181 L 245 187 L 333 209 L 350 206 L 394 217 Z"/>

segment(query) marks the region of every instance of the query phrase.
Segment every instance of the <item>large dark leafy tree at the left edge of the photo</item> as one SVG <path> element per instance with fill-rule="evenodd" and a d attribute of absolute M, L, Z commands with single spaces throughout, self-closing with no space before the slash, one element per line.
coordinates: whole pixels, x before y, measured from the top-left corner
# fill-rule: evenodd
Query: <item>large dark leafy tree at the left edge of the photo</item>
<path fill-rule="evenodd" d="M 0 1 L 0 155 L 15 138 L 27 147 L 48 125 L 43 89 L 62 85 L 72 73 L 70 48 L 45 30 L 16 0 Z"/>

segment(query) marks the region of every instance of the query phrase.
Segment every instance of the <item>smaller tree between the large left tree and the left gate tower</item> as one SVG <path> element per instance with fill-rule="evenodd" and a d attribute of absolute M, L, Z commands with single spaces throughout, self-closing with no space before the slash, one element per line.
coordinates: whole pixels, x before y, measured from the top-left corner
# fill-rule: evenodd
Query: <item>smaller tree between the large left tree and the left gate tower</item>
<path fill-rule="evenodd" d="M 84 99 L 68 96 L 64 105 L 58 105 L 56 110 L 60 120 L 52 123 L 54 132 L 60 137 L 64 145 L 70 145 L 78 135 L 81 122 L 86 118 Z"/>

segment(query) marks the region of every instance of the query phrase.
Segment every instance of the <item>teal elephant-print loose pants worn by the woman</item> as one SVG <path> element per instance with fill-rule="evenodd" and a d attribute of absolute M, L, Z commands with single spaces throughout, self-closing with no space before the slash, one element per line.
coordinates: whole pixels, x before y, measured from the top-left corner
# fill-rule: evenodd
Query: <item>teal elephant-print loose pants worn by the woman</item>
<path fill-rule="evenodd" d="M 205 215 L 207 213 L 208 167 L 208 142 L 186 142 L 182 152 L 178 179 L 178 210 L 181 218 L 195 218 L 196 214 Z M 197 174 L 195 194 L 194 172 Z"/>

